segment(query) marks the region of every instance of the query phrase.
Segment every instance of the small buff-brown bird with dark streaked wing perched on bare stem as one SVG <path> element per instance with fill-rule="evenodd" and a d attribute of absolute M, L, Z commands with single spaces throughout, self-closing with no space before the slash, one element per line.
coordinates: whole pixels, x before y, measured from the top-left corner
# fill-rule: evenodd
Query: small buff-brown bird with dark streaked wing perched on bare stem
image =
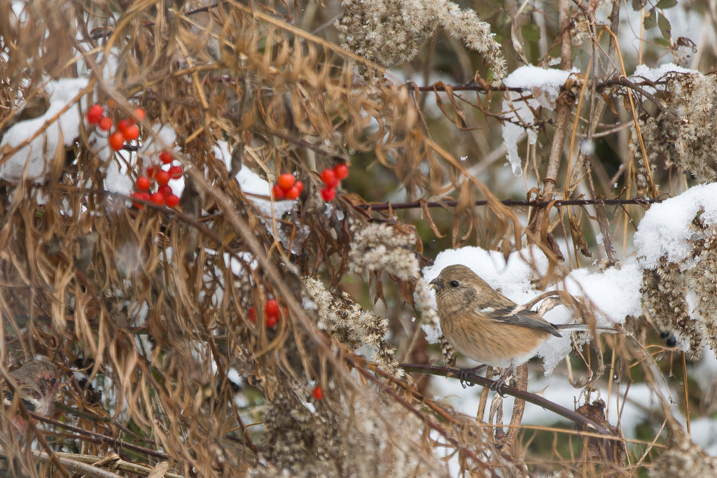
<path fill-rule="evenodd" d="M 562 337 L 561 331 L 590 330 L 582 324 L 551 324 L 462 265 L 445 267 L 429 284 L 435 289 L 441 330 L 450 345 L 476 362 L 505 368 L 490 387 L 501 395 L 513 367 L 530 360 L 545 340 Z M 597 329 L 617 333 L 614 328 Z"/>

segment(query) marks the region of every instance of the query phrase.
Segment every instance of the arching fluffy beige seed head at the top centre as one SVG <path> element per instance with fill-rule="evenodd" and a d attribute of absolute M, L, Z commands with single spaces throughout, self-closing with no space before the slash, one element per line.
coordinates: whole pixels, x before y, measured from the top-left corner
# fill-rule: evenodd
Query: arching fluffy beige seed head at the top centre
<path fill-rule="evenodd" d="M 500 44 L 490 25 L 473 10 L 462 10 L 447 0 L 344 0 L 342 5 L 345 11 L 336 29 L 341 46 L 350 52 L 386 66 L 397 59 L 407 62 L 440 27 L 483 54 L 493 67 L 493 86 L 503 81 L 505 59 Z M 373 76 L 364 64 L 359 64 L 359 72 Z"/>

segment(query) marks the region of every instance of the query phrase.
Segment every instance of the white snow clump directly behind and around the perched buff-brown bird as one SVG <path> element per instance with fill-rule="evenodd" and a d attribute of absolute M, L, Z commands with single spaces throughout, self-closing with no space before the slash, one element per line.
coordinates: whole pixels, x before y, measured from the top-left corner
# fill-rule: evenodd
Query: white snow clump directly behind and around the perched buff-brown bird
<path fill-rule="evenodd" d="M 533 290 L 531 281 L 546 274 L 549 261 L 537 247 L 522 249 L 508 256 L 505 263 L 503 254 L 497 251 L 486 251 L 480 247 L 463 247 L 461 249 L 441 252 L 434 265 L 424 269 L 424 278 L 431 280 L 439 272 L 452 264 L 463 264 L 473 270 L 495 290 L 517 304 L 525 304 L 540 295 Z M 628 315 L 640 315 L 640 287 L 642 285 L 642 269 L 636 262 L 624 264 L 620 269 L 607 269 L 605 272 L 589 272 L 587 269 L 572 271 L 563 283 L 548 290 L 566 290 L 575 297 L 582 297 L 594 306 L 598 325 L 610 327 L 614 323 L 623 323 Z M 620 297 L 620 300 L 615 300 Z M 574 317 L 566 307 L 556 307 L 545 315 L 546 320 L 556 324 L 574 321 Z M 424 332 L 435 338 L 436 330 L 424 326 Z M 428 339 L 427 339 L 428 340 Z M 543 358 L 546 375 L 550 375 L 556 365 L 570 352 L 570 336 L 553 337 L 546 340 L 536 355 Z"/>

